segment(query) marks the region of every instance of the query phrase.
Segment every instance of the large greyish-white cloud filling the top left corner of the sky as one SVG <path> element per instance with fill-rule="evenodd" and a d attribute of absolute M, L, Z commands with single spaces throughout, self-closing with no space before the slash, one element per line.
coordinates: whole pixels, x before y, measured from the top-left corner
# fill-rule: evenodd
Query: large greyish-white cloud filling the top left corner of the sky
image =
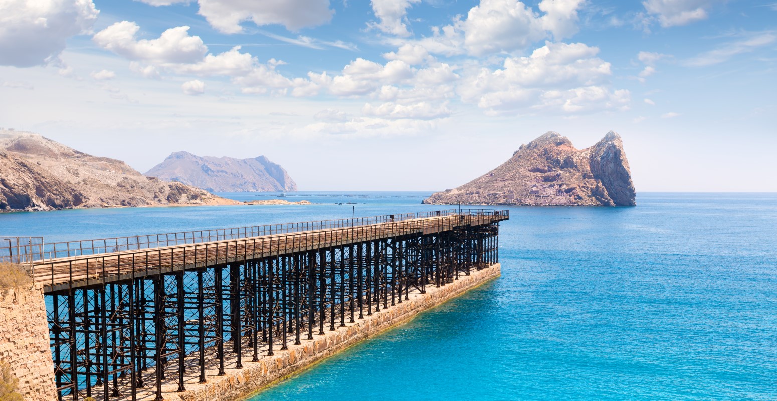
<path fill-rule="evenodd" d="M 69 37 L 89 33 L 98 13 L 92 0 L 0 0 L 0 65 L 46 64 Z"/>

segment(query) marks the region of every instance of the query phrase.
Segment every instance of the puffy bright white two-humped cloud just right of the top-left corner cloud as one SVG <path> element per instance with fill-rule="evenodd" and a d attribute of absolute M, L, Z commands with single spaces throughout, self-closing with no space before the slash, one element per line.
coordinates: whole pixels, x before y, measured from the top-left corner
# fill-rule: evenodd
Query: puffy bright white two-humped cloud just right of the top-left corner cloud
<path fill-rule="evenodd" d="M 190 63 L 200 60 L 207 47 L 200 37 L 189 35 L 189 26 L 170 28 L 158 39 L 138 40 L 137 23 L 121 21 L 95 33 L 92 40 L 100 47 L 135 61 Z"/>

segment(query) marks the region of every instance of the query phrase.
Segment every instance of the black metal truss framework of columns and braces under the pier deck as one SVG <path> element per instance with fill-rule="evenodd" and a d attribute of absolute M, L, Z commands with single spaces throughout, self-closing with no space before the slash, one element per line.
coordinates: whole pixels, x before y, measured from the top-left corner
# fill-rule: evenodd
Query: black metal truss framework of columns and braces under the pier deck
<path fill-rule="evenodd" d="M 497 263 L 498 234 L 497 220 L 48 292 L 58 399 L 183 392 Z"/>

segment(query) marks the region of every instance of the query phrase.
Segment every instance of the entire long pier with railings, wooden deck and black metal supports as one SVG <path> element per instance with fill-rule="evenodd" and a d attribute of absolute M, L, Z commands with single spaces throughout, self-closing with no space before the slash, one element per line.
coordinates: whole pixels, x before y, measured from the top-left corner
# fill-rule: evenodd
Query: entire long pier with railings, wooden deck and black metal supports
<path fill-rule="evenodd" d="M 427 290 L 497 265 L 507 218 L 451 209 L 51 244 L 3 237 L 0 261 L 28 263 L 45 297 L 57 399 L 162 400 L 303 341 L 354 336 L 403 302 L 421 308 Z"/>

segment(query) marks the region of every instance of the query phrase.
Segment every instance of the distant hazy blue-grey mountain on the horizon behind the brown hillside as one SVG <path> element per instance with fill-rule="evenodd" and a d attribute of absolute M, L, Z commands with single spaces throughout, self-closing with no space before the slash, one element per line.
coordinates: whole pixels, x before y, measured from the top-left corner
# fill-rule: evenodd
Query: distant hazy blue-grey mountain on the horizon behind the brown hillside
<path fill-rule="evenodd" d="M 266 157 L 232 159 L 175 152 L 145 173 L 209 192 L 295 192 L 297 184 Z"/>

